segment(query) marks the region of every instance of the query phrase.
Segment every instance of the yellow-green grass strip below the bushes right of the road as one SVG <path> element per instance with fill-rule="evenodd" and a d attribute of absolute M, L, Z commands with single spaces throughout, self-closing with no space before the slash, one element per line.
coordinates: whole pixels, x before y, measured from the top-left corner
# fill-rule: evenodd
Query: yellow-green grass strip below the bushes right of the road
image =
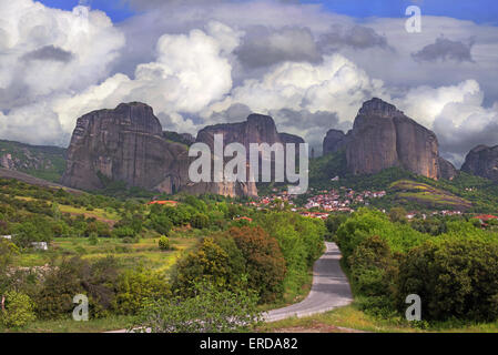
<path fill-rule="evenodd" d="M 362 312 L 355 304 L 305 318 L 266 323 L 261 332 L 369 332 L 369 333 L 498 333 L 498 322 L 481 324 L 440 323 L 427 328 L 416 327 L 402 317 L 382 320 Z"/>

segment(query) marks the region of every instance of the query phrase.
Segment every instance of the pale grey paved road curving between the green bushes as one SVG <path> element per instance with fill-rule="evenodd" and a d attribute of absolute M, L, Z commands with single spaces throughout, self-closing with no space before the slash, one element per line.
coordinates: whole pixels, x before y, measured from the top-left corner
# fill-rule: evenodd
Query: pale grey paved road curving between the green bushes
<path fill-rule="evenodd" d="M 301 303 L 267 312 L 264 314 L 266 322 L 325 313 L 353 302 L 349 283 L 339 265 L 339 248 L 334 243 L 326 243 L 326 246 L 327 251 L 315 263 L 309 295 Z"/>

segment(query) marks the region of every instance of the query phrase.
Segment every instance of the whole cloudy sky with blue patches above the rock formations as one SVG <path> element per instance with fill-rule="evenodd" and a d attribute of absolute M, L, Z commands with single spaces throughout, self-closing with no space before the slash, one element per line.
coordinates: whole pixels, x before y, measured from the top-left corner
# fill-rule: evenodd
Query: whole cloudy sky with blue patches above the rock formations
<path fill-rule="evenodd" d="M 0 138 L 67 146 L 79 116 L 142 101 L 194 135 L 271 114 L 319 152 L 378 97 L 459 166 L 498 144 L 497 68 L 494 0 L 0 0 Z"/>

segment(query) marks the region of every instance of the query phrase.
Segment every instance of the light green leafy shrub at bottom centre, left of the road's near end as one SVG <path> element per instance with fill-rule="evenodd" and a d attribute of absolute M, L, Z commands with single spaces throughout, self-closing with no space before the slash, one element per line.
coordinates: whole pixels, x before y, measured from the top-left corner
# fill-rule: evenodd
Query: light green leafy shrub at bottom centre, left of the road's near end
<path fill-rule="evenodd" d="M 152 333 L 235 333 L 254 329 L 261 321 L 257 297 L 246 291 L 195 285 L 193 297 L 146 302 L 133 327 Z"/>

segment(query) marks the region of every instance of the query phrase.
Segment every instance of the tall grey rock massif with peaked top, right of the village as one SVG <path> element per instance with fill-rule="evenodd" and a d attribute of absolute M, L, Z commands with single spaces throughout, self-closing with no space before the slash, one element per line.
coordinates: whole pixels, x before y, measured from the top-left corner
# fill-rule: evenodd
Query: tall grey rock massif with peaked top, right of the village
<path fill-rule="evenodd" d="M 325 153 L 343 148 L 353 174 L 373 174 L 393 166 L 431 179 L 456 174 L 455 168 L 439 156 L 436 134 L 380 99 L 363 104 L 347 134 L 337 130 L 327 133 Z"/>

